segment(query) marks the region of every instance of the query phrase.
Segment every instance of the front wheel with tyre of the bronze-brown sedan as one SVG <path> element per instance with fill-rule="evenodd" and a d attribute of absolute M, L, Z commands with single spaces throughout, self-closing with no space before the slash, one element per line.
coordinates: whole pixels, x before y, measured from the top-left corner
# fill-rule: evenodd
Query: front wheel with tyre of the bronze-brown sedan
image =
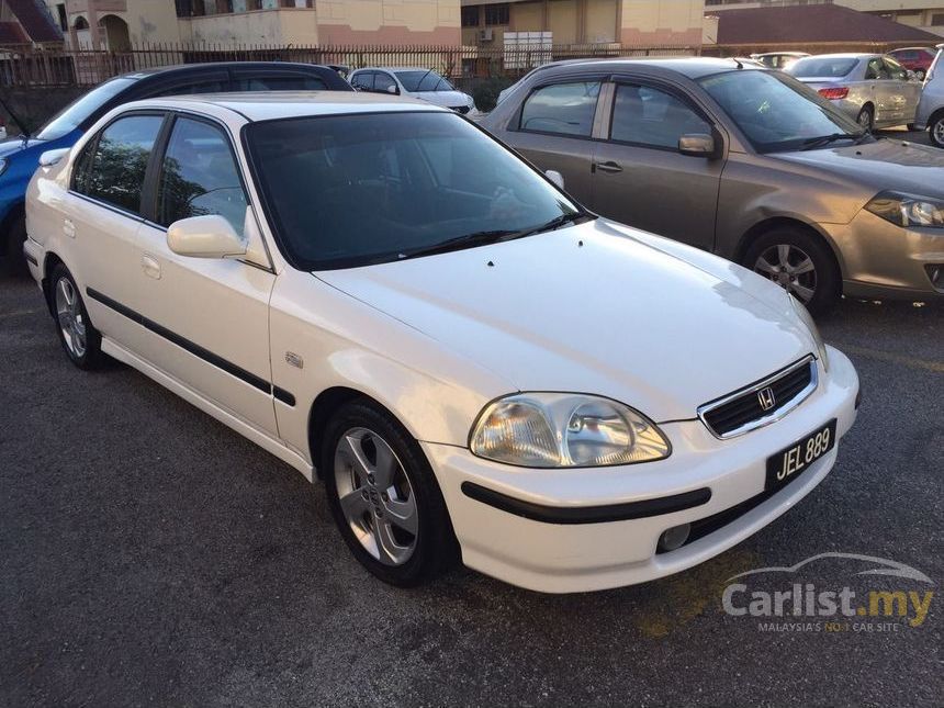
<path fill-rule="evenodd" d="M 784 226 L 755 238 L 742 265 L 777 283 L 813 314 L 829 311 L 842 292 L 839 266 L 822 238 Z"/>

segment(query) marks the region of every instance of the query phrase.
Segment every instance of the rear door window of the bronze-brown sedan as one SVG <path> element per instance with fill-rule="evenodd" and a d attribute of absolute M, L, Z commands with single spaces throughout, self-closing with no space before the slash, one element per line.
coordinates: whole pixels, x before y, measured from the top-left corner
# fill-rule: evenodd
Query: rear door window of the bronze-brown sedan
<path fill-rule="evenodd" d="M 527 98 L 521 109 L 522 131 L 589 137 L 599 97 L 599 81 L 546 86 Z"/>

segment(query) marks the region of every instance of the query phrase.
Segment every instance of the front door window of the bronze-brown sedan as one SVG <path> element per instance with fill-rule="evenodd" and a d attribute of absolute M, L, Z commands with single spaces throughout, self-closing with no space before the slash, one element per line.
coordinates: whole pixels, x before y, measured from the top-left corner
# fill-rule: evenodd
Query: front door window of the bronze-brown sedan
<path fill-rule="evenodd" d="M 681 99 L 648 86 L 617 87 L 610 139 L 674 150 L 690 133 L 710 135 L 711 126 Z"/>

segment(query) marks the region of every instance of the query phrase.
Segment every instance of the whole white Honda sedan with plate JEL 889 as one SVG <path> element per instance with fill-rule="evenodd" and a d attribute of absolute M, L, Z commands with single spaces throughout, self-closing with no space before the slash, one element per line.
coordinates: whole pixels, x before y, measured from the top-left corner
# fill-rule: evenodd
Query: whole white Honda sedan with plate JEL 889
<path fill-rule="evenodd" d="M 126 362 L 321 479 L 398 585 L 460 557 L 555 593 L 681 571 L 817 486 L 856 416 L 785 291 L 420 101 L 130 103 L 44 155 L 26 218 L 76 366 Z"/>

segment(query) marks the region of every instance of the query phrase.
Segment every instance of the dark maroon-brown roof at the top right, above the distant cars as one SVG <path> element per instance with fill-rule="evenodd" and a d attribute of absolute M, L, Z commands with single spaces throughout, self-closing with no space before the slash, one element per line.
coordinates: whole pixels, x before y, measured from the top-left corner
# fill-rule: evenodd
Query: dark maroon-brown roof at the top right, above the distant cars
<path fill-rule="evenodd" d="M 836 4 L 724 10 L 717 15 L 718 44 L 941 42 L 936 34 Z"/>

